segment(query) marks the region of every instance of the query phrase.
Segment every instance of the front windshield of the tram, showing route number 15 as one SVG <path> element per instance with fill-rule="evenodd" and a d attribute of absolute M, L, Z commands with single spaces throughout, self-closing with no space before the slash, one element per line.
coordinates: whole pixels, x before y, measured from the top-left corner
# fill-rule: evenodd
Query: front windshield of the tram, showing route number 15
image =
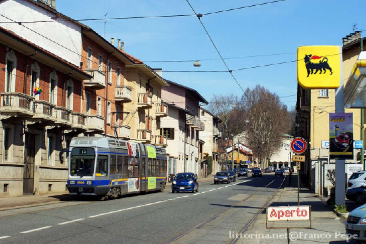
<path fill-rule="evenodd" d="M 93 176 L 95 152 L 93 148 L 73 148 L 71 151 L 70 175 Z"/>

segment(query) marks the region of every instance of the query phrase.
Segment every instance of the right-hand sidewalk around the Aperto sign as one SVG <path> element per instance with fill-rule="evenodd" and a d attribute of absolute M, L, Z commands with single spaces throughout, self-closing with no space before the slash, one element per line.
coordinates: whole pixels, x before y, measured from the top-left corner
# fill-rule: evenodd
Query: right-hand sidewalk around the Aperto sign
<path fill-rule="evenodd" d="M 297 175 L 292 175 L 292 185 L 288 183 L 288 176 L 284 182 L 283 191 L 279 191 L 274 197 L 270 206 L 297 206 Z M 301 184 L 300 184 L 301 186 Z M 314 193 L 308 189 L 300 188 L 300 205 L 311 206 L 311 229 L 292 228 L 290 229 L 290 242 L 296 243 L 347 243 L 343 219 L 336 214 Z M 287 229 L 266 229 L 266 211 L 258 215 L 254 223 L 242 234 L 240 243 L 286 243 Z M 268 226 L 293 226 L 301 227 L 309 225 L 307 222 L 288 221 L 288 222 L 269 222 Z M 252 234 L 252 235 L 250 235 Z M 348 243 L 355 243 L 349 240 Z"/>

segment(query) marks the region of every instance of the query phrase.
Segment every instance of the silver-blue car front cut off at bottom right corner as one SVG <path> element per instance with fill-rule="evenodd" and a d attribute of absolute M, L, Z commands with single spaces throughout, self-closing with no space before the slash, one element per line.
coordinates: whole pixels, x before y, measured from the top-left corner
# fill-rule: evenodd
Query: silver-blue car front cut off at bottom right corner
<path fill-rule="evenodd" d="M 366 231 L 366 204 L 355 208 L 347 217 L 346 233 L 350 234 L 352 239 L 364 242 L 365 235 L 360 235 Z"/>

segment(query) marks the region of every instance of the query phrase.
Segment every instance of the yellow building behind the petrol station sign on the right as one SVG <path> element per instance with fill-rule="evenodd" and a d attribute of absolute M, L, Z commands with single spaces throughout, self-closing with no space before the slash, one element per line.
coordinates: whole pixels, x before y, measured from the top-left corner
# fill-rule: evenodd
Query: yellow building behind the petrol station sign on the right
<path fill-rule="evenodd" d="M 365 43 L 364 39 L 362 40 Z M 361 32 L 351 33 L 343 38 L 344 86 L 361 52 L 360 40 Z M 326 170 L 334 169 L 334 160 L 329 161 L 329 113 L 335 112 L 335 90 L 309 90 L 298 85 L 296 111 L 296 136 L 309 142 L 305 152 L 306 162 L 302 163 L 300 174 L 309 188 L 315 193 L 325 195 L 325 189 L 329 186 L 325 177 Z M 353 140 L 360 140 L 361 110 L 345 109 L 344 112 L 353 113 Z M 346 160 L 346 163 L 356 163 L 359 160 L 359 152 L 354 149 L 354 159 Z"/>

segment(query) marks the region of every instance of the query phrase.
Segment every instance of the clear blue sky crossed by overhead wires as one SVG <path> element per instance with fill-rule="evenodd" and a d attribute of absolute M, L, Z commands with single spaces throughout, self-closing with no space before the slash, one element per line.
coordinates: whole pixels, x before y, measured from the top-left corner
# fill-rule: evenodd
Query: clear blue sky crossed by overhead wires
<path fill-rule="evenodd" d="M 224 10 L 270 0 L 190 0 L 197 13 Z M 185 0 L 57 0 L 57 10 L 74 19 L 193 14 Z M 201 18 L 224 58 L 292 53 L 226 60 L 230 69 L 296 60 L 300 45 L 341 45 L 342 37 L 366 30 L 365 0 L 287 0 L 258 7 L 206 15 Z M 104 36 L 104 21 L 85 21 Z M 142 61 L 219 58 L 195 16 L 107 21 L 106 39 L 121 39 L 124 50 Z M 362 34 L 362 37 L 365 35 Z M 221 60 L 150 63 L 164 70 L 226 70 Z M 281 96 L 289 108 L 296 102 L 296 62 L 236 71 L 244 88 L 260 84 Z M 212 95 L 242 95 L 229 73 L 168 73 L 163 77 L 198 90 L 206 100 Z"/>

